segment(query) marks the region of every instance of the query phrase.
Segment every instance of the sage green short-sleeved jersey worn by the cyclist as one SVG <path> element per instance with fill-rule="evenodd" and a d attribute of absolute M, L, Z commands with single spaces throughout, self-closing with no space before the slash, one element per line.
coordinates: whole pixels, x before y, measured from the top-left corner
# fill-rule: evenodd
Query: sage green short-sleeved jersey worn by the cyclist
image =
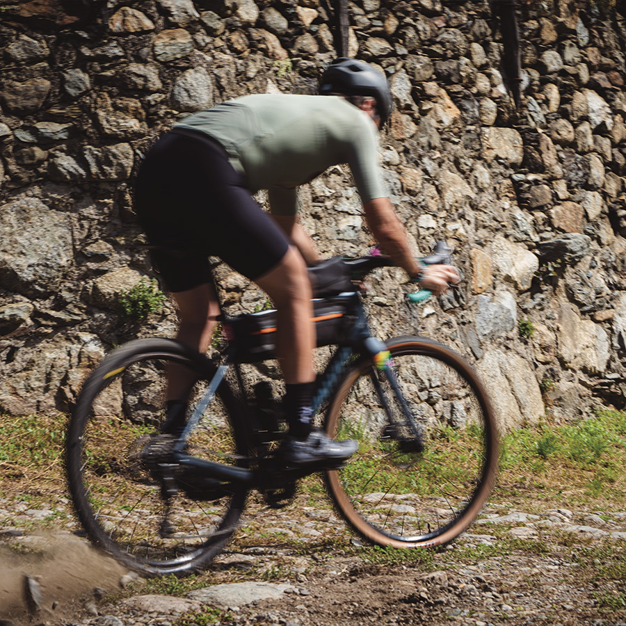
<path fill-rule="evenodd" d="M 376 125 L 342 97 L 248 95 L 189 115 L 177 128 L 223 145 L 250 191 L 268 190 L 273 214 L 294 214 L 296 187 L 338 163 L 350 166 L 362 202 L 387 195 Z"/>

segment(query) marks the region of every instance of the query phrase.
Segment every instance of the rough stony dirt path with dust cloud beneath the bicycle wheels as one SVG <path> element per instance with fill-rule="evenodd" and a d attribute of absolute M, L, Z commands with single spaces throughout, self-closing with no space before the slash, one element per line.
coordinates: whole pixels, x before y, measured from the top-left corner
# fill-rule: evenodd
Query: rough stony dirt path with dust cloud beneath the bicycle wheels
<path fill-rule="evenodd" d="M 252 503 L 197 588 L 155 595 L 72 533 L 70 518 L 43 531 L 65 507 L 0 500 L 0 624 L 171 626 L 190 611 L 204 624 L 211 606 L 241 626 L 626 626 L 622 512 L 490 505 L 452 545 L 407 555 L 360 547 L 325 501 Z"/>

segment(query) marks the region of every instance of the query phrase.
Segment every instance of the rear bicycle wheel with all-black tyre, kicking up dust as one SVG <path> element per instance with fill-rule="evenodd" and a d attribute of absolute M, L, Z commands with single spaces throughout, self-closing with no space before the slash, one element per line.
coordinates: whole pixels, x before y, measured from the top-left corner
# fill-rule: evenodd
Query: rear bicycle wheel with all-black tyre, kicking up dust
<path fill-rule="evenodd" d="M 202 570 L 236 529 L 247 489 L 189 495 L 179 490 L 167 501 L 163 479 L 138 456 L 158 432 L 165 412 L 170 364 L 195 374 L 191 397 L 215 367 L 172 339 L 138 339 L 109 354 L 79 394 L 66 442 L 67 480 L 77 517 L 92 543 L 144 576 L 184 576 Z M 223 383 L 191 433 L 188 454 L 241 465 L 247 456 L 238 410 Z M 204 426 L 202 426 L 204 424 Z M 217 457 L 217 458 L 216 458 Z M 210 497 L 212 496 L 212 498 Z"/>

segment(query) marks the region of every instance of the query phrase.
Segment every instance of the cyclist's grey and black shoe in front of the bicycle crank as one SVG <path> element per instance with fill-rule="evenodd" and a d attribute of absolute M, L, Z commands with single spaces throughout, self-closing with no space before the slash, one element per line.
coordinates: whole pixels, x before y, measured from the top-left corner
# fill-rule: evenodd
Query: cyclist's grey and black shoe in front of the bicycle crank
<path fill-rule="evenodd" d="M 314 428 L 305 440 L 287 437 L 281 446 L 280 456 L 292 467 L 319 466 L 320 469 L 330 470 L 340 467 L 358 447 L 358 442 L 353 439 L 335 441 Z"/>

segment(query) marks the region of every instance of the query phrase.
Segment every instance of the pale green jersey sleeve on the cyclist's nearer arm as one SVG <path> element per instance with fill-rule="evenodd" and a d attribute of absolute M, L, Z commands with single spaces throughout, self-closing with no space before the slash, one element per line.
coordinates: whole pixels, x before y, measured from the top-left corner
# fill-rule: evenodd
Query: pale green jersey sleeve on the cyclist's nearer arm
<path fill-rule="evenodd" d="M 348 166 L 362 202 L 386 198 L 389 194 L 383 184 L 378 161 L 378 135 L 369 118 L 360 118 L 353 127 L 348 149 Z"/>

